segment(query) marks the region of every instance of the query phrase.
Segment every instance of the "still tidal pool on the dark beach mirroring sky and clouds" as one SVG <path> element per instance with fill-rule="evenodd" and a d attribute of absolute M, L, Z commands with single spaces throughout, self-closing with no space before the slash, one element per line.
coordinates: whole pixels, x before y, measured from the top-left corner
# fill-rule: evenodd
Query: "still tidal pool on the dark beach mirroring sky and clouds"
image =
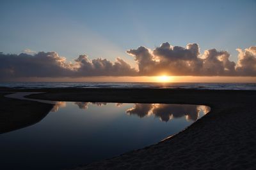
<path fill-rule="evenodd" d="M 0 135 L 1 169 L 63 169 L 152 145 L 210 111 L 189 104 L 57 102 L 35 125 Z"/>

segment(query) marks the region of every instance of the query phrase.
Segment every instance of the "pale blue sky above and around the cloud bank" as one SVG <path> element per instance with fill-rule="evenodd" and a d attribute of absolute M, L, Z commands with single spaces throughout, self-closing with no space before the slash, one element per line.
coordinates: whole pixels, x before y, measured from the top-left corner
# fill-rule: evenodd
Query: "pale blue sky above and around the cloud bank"
<path fill-rule="evenodd" d="M 116 58 L 125 61 L 131 68 L 140 72 L 139 76 L 157 76 L 158 74 L 168 74 L 172 76 L 256 76 L 253 60 L 255 49 L 250 48 L 256 45 L 256 1 L 0 1 L 0 52 L 3 52 L 2 62 L 10 66 L 3 66 L 4 74 L 0 75 L 5 80 L 10 77 L 9 72 L 16 66 L 12 60 L 6 60 L 6 57 L 12 57 L 7 54 L 17 54 L 25 52 L 34 55 L 38 52 L 56 52 L 58 57 L 65 57 L 65 63 L 72 62 L 76 66 L 66 66 L 65 68 L 76 69 L 84 64 L 84 60 L 92 62 L 93 59 L 102 64 L 103 61 L 98 58 L 107 59 L 115 63 Z M 143 54 L 143 60 L 139 58 L 142 55 L 132 50 L 145 47 L 150 53 L 157 51 L 162 43 L 168 42 L 172 46 L 180 46 L 187 49 L 189 43 L 198 45 L 198 54 L 196 57 L 209 57 L 205 50 L 216 49 L 218 54 L 226 55 L 221 52 L 228 52 L 228 62 L 234 62 L 237 67 L 238 55 L 240 54 L 239 71 L 229 71 L 228 73 L 210 73 L 202 74 L 206 69 L 202 67 L 200 73 L 192 71 L 177 71 L 183 65 L 175 62 L 175 66 L 170 64 L 170 53 L 154 53 L 152 60 L 159 59 L 169 64 L 148 64 Z M 241 49 L 238 52 L 236 49 Z M 245 50 L 248 49 L 248 50 Z M 130 50 L 130 51 L 129 51 Z M 161 50 L 161 49 L 160 49 Z M 163 49 L 162 49 L 163 50 Z M 172 49 L 173 50 L 173 49 Z M 178 53 L 185 52 L 184 49 Z M 129 53 L 130 52 L 130 53 Z M 134 54 L 136 53 L 136 54 Z M 174 54 L 173 54 L 174 53 Z M 173 50 L 172 55 L 177 53 Z M 214 52 L 211 52 L 214 53 Z M 42 53 L 41 53 L 42 55 Z M 41 56 L 40 55 L 40 56 Z M 49 53 L 47 54 L 49 55 Z M 52 54 L 51 54 L 52 55 Z M 86 57 L 79 59 L 79 55 Z M 193 55 L 193 54 L 186 54 Z M 213 54 L 212 54 L 213 55 Z M 218 56 L 217 56 L 218 55 Z M 230 56 L 229 56 L 230 55 Z M 53 56 L 53 55 L 52 55 Z M 29 56 L 26 56 L 29 57 Z M 168 58 L 169 57 L 169 58 Z M 13 58 L 13 57 L 12 57 Z M 24 57 L 23 57 L 24 58 Z M 52 57 L 54 58 L 54 56 Z M 80 57 L 81 58 L 81 57 Z M 88 58 L 88 59 L 87 59 Z M 166 61 L 168 58 L 168 61 Z M 186 57 L 185 57 L 186 58 Z M 246 58 L 247 60 L 242 60 Z M 249 59 L 250 58 L 250 59 Z M 56 56 L 55 58 L 56 59 Z M 76 61 L 79 59 L 79 62 Z M 135 60 L 134 60 L 135 59 Z M 185 59 L 186 60 L 186 59 Z M 189 59 L 190 60 L 190 59 Z M 253 60 L 253 62 L 249 62 Z M 1 61 L 1 58 L 0 58 Z M 95 62 L 96 62 L 95 61 Z M 51 61 L 56 62 L 56 60 Z M 58 59 L 58 62 L 60 59 Z M 198 61 L 196 61 L 198 62 Z M 200 61 L 201 62 L 201 61 Z M 205 62 L 205 61 L 202 61 Z M 207 61 L 208 62 L 208 61 Z M 211 61 L 209 61 L 211 62 Z M 34 63 L 34 62 L 33 62 Z M 37 63 L 37 62 L 36 62 Z M 45 62 L 44 62 L 45 63 Z M 63 64 L 63 62 L 61 62 Z M 118 61 L 122 63 L 122 61 Z M 146 63 L 146 64 L 145 64 Z M 173 60 L 172 60 L 173 63 Z M 194 62 L 193 62 L 194 63 Z M 247 64 L 246 64 L 247 63 Z M 248 66 L 248 63 L 251 63 Z M 27 62 L 24 62 L 27 64 Z M 29 62 L 31 64 L 31 62 Z M 28 64 L 28 65 L 29 65 Z M 76 73 L 80 76 L 138 76 L 134 70 L 126 67 L 124 63 L 116 64 L 111 74 L 99 73 L 98 69 L 93 69 L 97 74 L 88 74 L 92 69 L 83 69 L 86 74 Z M 160 73 L 159 67 L 166 68 L 179 67 Z M 229 65 L 232 63 L 229 63 Z M 2 64 L 3 65 L 3 64 Z M 51 65 L 51 64 L 50 64 Z M 85 64 L 86 65 L 86 64 Z M 117 66 L 118 65 L 118 66 Z M 157 66 L 156 66 L 157 65 Z M 223 67 L 230 69 L 232 66 Z M 1 66 L 1 64 L 0 64 Z M 29 65 L 30 66 L 30 65 Z M 55 66 L 55 65 L 54 65 Z M 87 65 L 86 65 L 87 66 Z M 140 69 L 141 66 L 141 69 Z M 31 69 L 35 64 L 31 66 Z M 85 66 L 84 66 L 85 67 Z M 93 67 L 95 67 L 93 65 Z M 118 69 L 116 69 L 118 67 Z M 112 74 L 123 70 L 125 73 Z M 156 74 L 149 73 L 145 69 L 149 67 L 156 71 Z M 210 66 L 209 66 L 210 67 Z M 216 65 L 212 66 L 216 69 Z M 250 67 L 250 70 L 248 69 Z M 31 71 L 28 70 L 29 71 Z M 49 69 L 42 67 L 42 69 Z M 138 71 L 139 69 L 139 71 Z M 254 70 L 255 69 L 255 70 Z M 0 67 L 1 70 L 1 67 Z M 7 71 L 6 71 L 7 70 Z M 241 71 L 242 70 L 242 71 Z M 8 72 L 9 71 L 9 72 Z M 68 71 L 61 71 L 66 73 Z M 46 71 L 47 73 L 49 71 Z M 106 69 L 102 69 L 106 72 Z M 161 71 L 163 72 L 163 71 Z M 209 72 L 209 73 L 208 73 Z M 237 73 L 235 73 L 237 72 Z M 239 73 L 238 73 L 239 72 Z M 175 73 L 175 74 L 174 74 Z M 3 74 L 3 73 L 2 73 Z M 46 74 L 46 73 L 45 73 Z M 17 77 L 45 77 L 47 75 L 20 74 Z M 50 73 L 48 73 L 50 76 Z M 58 74 L 54 77 L 67 76 L 74 74 Z M 252 77 L 255 81 L 255 78 Z"/>

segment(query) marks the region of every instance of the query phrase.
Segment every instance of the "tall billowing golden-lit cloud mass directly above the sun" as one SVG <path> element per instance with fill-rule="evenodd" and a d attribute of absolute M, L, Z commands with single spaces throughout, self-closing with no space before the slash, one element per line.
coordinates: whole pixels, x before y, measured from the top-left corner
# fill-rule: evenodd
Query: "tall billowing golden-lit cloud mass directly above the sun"
<path fill-rule="evenodd" d="M 246 49 L 240 54 L 239 60 L 253 60 L 252 63 L 243 60 L 241 69 L 250 69 L 243 76 L 256 76 L 255 71 L 255 46 Z M 141 75 L 156 76 L 159 74 L 170 74 L 175 76 L 239 76 L 241 71 L 236 63 L 229 60 L 230 54 L 227 51 L 218 51 L 215 48 L 205 50 L 200 55 L 199 45 L 188 44 L 186 47 L 171 46 L 163 43 L 161 46 L 150 50 L 145 46 L 137 49 L 127 50 L 127 53 L 134 56 L 139 66 Z M 243 55 L 243 56 L 242 56 Z M 249 56 L 250 55 L 250 56 Z M 241 58 L 241 59 L 240 59 Z M 253 69 L 253 68 L 254 69 Z M 247 74 L 250 72 L 250 74 Z"/>

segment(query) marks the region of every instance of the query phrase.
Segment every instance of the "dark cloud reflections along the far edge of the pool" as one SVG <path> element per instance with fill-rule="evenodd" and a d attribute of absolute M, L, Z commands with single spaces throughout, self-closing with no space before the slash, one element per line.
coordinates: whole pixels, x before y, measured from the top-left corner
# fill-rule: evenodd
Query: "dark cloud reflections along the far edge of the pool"
<path fill-rule="evenodd" d="M 106 106 L 108 103 L 90 103 L 90 102 L 76 102 L 76 104 L 80 109 L 87 110 L 90 105 L 96 106 Z M 122 106 L 123 103 L 116 103 L 116 107 Z M 56 112 L 59 108 L 63 108 L 66 106 L 65 102 L 58 102 L 52 108 L 52 111 Z M 136 115 L 140 118 L 148 117 L 150 115 L 154 115 L 154 117 L 158 117 L 163 122 L 168 122 L 173 118 L 185 117 L 186 120 L 195 121 L 199 118 L 199 113 L 205 115 L 210 111 L 208 106 L 203 105 L 192 105 L 192 104 L 145 104 L 145 103 L 136 103 L 132 108 L 126 110 L 128 115 Z"/>

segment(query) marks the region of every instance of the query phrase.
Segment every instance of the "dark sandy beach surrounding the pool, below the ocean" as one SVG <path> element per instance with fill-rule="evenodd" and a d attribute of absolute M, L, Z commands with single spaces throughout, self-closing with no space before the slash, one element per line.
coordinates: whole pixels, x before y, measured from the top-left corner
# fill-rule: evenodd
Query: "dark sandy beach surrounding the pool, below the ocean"
<path fill-rule="evenodd" d="M 210 113 L 172 138 L 76 169 L 255 169 L 255 90 L 5 88 L 0 91 L 45 92 L 28 97 L 51 101 L 203 104 L 211 107 Z M 22 120 L 26 124 L 4 132 L 35 124 L 52 108 L 51 104 L 3 96 L 1 101 L 3 113 L 12 113 L 13 117 L 20 113 L 36 112 L 38 115 L 27 117 Z"/>

